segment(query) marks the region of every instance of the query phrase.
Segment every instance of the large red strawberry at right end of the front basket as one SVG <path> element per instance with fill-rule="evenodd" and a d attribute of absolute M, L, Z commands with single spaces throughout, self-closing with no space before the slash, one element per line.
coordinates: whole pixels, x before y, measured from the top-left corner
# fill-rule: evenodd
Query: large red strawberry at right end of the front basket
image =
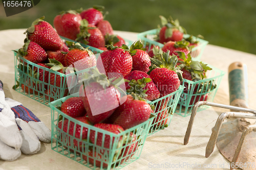
<path fill-rule="evenodd" d="M 129 129 L 150 118 L 150 105 L 143 100 L 139 100 L 138 96 L 135 93 L 127 95 L 126 101 L 114 111 L 108 118 L 108 122 L 119 125 L 123 129 Z M 123 98 L 126 98 L 126 96 Z"/>

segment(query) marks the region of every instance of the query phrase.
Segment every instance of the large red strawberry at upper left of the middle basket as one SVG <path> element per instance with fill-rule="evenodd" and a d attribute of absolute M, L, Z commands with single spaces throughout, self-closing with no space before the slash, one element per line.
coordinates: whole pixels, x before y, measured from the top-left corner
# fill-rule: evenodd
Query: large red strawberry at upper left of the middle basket
<path fill-rule="evenodd" d="M 123 77 L 128 75 L 133 66 L 133 59 L 129 53 L 129 48 L 126 45 L 123 45 L 123 47 L 108 45 L 107 49 L 97 59 L 96 65 L 99 71 L 111 77 L 116 77 L 118 73 Z"/>

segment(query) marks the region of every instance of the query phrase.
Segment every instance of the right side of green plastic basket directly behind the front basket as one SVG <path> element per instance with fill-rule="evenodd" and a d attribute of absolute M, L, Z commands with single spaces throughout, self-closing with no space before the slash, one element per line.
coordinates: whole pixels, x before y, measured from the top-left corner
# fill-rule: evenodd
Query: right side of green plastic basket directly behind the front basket
<path fill-rule="evenodd" d="M 180 85 L 179 89 L 173 93 L 163 96 L 155 101 L 147 101 L 148 104 L 154 106 L 154 114 L 156 117 L 153 120 L 148 136 L 168 127 L 173 118 L 181 93 L 185 87 Z M 162 106 L 162 107 L 161 107 Z"/>

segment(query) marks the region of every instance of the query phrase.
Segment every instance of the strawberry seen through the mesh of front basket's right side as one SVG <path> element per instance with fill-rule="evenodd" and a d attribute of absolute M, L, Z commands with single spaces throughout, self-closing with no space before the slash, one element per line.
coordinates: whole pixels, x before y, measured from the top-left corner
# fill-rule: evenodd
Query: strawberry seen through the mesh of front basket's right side
<path fill-rule="evenodd" d="M 134 155 L 134 153 L 138 150 L 138 141 L 136 141 L 137 136 L 134 133 L 130 132 L 130 137 L 133 138 L 132 141 L 130 142 L 132 144 L 127 143 L 129 144 L 129 146 L 122 149 L 119 159 L 121 157 L 124 159 L 121 160 L 120 164 L 122 164 L 124 161 L 127 161 L 129 158 L 131 158 Z"/>

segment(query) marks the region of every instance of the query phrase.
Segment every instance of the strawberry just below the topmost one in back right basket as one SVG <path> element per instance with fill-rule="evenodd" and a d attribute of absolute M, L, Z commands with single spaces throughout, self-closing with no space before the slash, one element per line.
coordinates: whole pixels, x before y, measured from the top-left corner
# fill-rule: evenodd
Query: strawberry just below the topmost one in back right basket
<path fill-rule="evenodd" d="M 177 51 L 183 52 L 185 53 L 185 55 L 187 55 L 191 51 L 191 49 L 189 48 L 189 42 L 185 40 L 177 41 L 177 42 L 174 42 L 174 41 L 166 42 L 162 47 L 162 51 L 166 53 L 167 50 L 170 51 L 170 55 L 174 54 L 176 56 L 178 56 Z"/>

